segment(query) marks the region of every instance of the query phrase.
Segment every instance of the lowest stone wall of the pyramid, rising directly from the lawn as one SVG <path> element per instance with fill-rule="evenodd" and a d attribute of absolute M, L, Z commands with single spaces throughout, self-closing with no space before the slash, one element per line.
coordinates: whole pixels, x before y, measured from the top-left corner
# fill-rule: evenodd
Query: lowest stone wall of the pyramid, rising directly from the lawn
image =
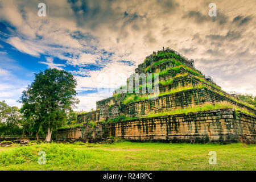
<path fill-rule="evenodd" d="M 234 109 L 133 119 L 106 125 L 108 136 L 126 140 L 255 143 L 255 117 Z"/>

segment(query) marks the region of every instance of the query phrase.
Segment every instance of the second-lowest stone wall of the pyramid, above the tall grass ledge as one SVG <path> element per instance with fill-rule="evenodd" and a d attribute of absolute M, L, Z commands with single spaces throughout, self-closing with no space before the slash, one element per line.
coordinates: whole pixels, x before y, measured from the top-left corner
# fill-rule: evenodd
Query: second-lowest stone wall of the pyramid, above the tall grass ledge
<path fill-rule="evenodd" d="M 238 105 L 246 110 L 251 111 L 252 113 L 255 113 L 254 109 L 237 103 L 229 97 L 213 92 L 210 89 L 198 88 L 166 94 L 164 96 L 159 96 L 155 100 L 131 102 L 130 104 L 122 105 L 121 113 L 129 115 L 130 117 L 142 117 L 143 115 L 147 115 L 152 112 L 159 113 L 163 111 L 179 109 L 182 107 L 201 105 L 205 102 L 213 103 L 220 101 L 228 101 L 234 105 Z"/>

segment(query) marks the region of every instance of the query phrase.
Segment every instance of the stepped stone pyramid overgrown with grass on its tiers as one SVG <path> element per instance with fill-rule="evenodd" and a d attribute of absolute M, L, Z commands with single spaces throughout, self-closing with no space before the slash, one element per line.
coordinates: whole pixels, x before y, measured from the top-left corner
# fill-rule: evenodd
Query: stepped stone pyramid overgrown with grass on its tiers
<path fill-rule="evenodd" d="M 139 86 L 131 93 L 129 86 L 134 88 L 136 82 Z M 189 108 L 216 104 L 215 110 L 185 113 Z M 147 56 L 126 85 L 115 90 L 113 97 L 97 101 L 96 106 L 95 111 L 78 115 L 77 122 L 83 126 L 59 130 L 56 138 L 104 135 L 129 140 L 255 143 L 255 107 L 224 92 L 195 68 L 193 60 L 171 48 Z M 96 124 L 89 129 L 92 123 Z"/>

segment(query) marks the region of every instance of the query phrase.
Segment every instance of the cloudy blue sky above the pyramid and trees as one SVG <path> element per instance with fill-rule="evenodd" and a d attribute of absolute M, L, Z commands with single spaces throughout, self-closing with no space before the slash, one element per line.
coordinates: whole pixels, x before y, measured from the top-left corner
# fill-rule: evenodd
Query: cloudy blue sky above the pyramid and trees
<path fill-rule="evenodd" d="M 46 3 L 46 17 L 38 4 Z M 171 47 L 222 89 L 256 94 L 256 2 L 0 1 L 0 100 L 16 100 L 47 68 L 77 80 L 77 110 L 96 107 L 152 51 Z M 152 8 L 154 7 L 154 8 Z"/>

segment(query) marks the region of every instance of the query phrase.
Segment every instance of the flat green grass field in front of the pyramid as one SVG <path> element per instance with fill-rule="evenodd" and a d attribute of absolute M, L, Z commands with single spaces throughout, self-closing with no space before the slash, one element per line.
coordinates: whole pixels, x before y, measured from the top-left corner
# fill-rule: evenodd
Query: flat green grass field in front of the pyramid
<path fill-rule="evenodd" d="M 38 164 L 39 151 L 46 164 Z M 217 164 L 210 165 L 209 151 Z M 255 170 L 256 145 L 236 144 L 56 144 L 1 147 L 1 170 Z"/>

